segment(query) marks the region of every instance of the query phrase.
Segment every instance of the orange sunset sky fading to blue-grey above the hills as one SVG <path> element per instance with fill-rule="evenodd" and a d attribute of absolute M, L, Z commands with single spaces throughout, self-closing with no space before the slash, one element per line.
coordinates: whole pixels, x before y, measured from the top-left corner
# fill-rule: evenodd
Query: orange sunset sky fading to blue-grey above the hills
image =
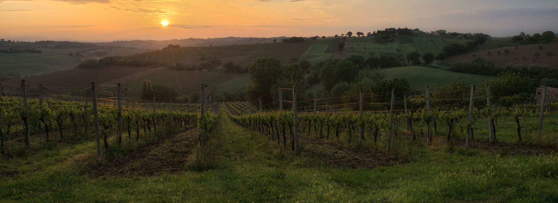
<path fill-rule="evenodd" d="M 558 1 L 0 0 L 1 38 L 310 37 L 389 27 L 493 37 L 558 32 Z"/>

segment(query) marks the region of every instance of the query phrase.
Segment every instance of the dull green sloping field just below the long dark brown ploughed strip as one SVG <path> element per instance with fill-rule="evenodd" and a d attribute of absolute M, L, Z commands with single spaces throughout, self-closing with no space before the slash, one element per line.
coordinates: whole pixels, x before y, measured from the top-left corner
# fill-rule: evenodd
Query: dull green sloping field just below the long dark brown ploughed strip
<path fill-rule="evenodd" d="M 166 83 L 175 88 L 180 95 L 189 95 L 191 92 L 200 91 L 201 83 L 208 86 L 219 86 L 238 76 L 238 73 L 222 73 L 209 71 L 176 71 L 163 68 L 154 74 L 148 74 L 138 77 L 134 80 L 122 83 L 123 87 L 132 90 L 141 91 L 143 80 L 150 80 L 152 83 Z M 108 92 L 117 92 L 116 87 L 108 88 Z M 130 97 L 139 97 L 140 93 L 136 91 L 127 91 Z"/>

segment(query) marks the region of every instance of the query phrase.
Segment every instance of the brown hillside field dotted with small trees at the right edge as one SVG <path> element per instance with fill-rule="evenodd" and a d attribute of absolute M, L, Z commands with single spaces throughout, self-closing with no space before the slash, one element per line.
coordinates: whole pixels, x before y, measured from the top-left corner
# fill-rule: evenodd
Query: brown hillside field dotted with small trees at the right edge
<path fill-rule="evenodd" d="M 542 50 L 540 50 L 538 46 L 543 46 Z M 507 55 L 504 52 L 505 49 L 509 49 L 509 53 Z M 498 51 L 501 51 L 502 53 L 498 55 Z M 554 52 L 554 54 L 552 56 L 548 56 L 546 55 L 547 51 Z M 492 55 L 488 56 L 488 52 L 492 52 Z M 540 56 L 538 58 L 535 58 L 535 55 L 533 55 L 535 53 L 540 53 Z M 558 68 L 558 40 L 555 40 L 550 44 L 527 44 L 521 45 L 518 48 L 510 46 L 493 48 L 473 53 L 464 53 L 462 55 L 456 55 L 446 58 L 446 60 L 444 60 L 443 62 L 472 62 L 474 60 L 473 55 L 477 55 L 476 57 L 487 58 L 488 60 L 492 61 L 496 65 L 496 67 L 503 67 L 504 65 L 506 65 L 506 63 L 521 63 L 526 67 L 536 64 L 550 66 L 551 68 Z M 523 60 L 523 56 L 526 56 L 527 60 Z M 513 57 L 517 57 L 517 60 L 514 60 Z M 535 58 L 535 62 L 533 62 L 533 58 Z"/>

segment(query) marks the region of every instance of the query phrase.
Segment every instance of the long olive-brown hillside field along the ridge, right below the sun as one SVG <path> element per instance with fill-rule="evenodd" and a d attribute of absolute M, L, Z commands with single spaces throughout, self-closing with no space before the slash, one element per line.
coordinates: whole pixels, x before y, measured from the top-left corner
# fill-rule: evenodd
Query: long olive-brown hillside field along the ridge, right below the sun
<path fill-rule="evenodd" d="M 244 66 L 248 65 L 259 57 L 275 57 L 281 60 L 281 62 L 286 63 L 289 58 L 300 58 L 302 54 L 306 52 L 306 49 L 311 46 L 312 43 L 312 41 L 307 41 L 296 43 L 276 42 L 212 47 L 182 47 L 141 53 L 139 55 L 128 57 L 127 59 L 169 61 L 171 63 L 174 63 L 180 60 L 180 58 L 188 55 L 211 54 L 216 57 L 249 55 L 242 61 L 238 62 L 238 64 Z"/>

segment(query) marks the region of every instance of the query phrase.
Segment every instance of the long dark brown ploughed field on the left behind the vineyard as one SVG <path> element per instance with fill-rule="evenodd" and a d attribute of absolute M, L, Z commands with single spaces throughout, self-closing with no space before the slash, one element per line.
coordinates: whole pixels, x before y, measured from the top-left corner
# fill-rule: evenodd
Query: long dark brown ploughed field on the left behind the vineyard
<path fill-rule="evenodd" d="M 127 81 L 119 78 L 128 78 L 128 80 L 132 80 L 133 78 L 139 77 L 139 75 L 147 75 L 148 73 L 157 71 L 157 69 L 160 68 L 140 68 L 128 66 L 112 66 L 100 69 L 75 68 L 72 70 L 3 81 L 2 83 L 19 84 L 21 83 L 21 80 L 26 80 L 26 85 L 33 86 L 43 85 L 51 87 L 88 88 L 91 87 L 92 81 L 96 84 L 106 84 L 108 81 L 118 79 L 119 82 L 123 83 Z M 135 77 L 125 77 L 131 75 L 134 75 Z M 116 83 L 110 85 L 116 85 Z"/>

